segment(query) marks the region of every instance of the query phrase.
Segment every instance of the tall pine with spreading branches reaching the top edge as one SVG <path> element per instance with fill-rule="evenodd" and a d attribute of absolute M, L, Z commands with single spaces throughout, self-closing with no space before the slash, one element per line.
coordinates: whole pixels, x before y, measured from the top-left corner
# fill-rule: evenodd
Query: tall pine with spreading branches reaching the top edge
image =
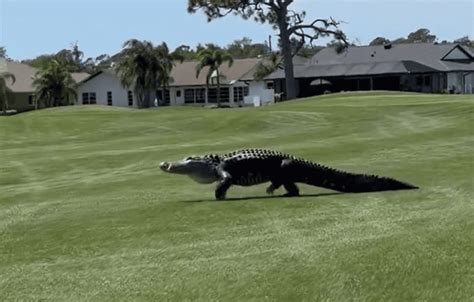
<path fill-rule="evenodd" d="M 240 15 L 244 19 L 269 23 L 279 30 L 281 53 L 285 65 L 287 99 L 296 97 L 296 81 L 293 70 L 293 56 L 297 53 L 291 49 L 291 37 L 300 40 L 301 47 L 310 44 L 319 37 L 333 36 L 346 43 L 345 34 L 339 29 L 340 22 L 330 19 L 315 19 L 305 23 L 306 13 L 296 12 L 290 8 L 294 0 L 188 0 L 188 12 L 200 9 L 208 21 L 229 14 Z"/>

